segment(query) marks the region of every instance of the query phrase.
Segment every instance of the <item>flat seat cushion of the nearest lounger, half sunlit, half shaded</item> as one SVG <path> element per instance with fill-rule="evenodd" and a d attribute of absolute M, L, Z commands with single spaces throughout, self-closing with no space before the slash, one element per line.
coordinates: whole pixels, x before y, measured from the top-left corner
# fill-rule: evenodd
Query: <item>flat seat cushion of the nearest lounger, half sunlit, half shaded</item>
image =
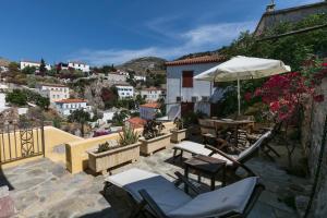
<path fill-rule="evenodd" d="M 192 199 L 164 177 L 141 169 L 134 168 L 110 175 L 106 181 L 128 191 L 136 202 L 142 201 L 138 191 L 146 190 L 165 213 L 175 209 Z"/>

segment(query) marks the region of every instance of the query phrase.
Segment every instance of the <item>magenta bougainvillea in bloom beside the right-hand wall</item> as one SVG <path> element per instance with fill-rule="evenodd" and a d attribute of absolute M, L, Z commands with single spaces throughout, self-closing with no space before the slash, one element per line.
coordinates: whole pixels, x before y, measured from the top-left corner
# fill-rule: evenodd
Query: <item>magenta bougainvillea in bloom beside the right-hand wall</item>
<path fill-rule="evenodd" d="M 257 88 L 254 96 L 261 97 L 270 110 L 277 114 L 278 121 L 291 121 L 296 118 L 303 106 L 303 98 L 312 95 L 317 102 L 324 101 L 324 95 L 315 94 L 315 85 L 327 76 L 326 63 L 311 62 L 302 72 L 292 72 L 282 75 L 274 75 L 262 87 Z M 251 94 L 245 94 L 246 100 Z"/>

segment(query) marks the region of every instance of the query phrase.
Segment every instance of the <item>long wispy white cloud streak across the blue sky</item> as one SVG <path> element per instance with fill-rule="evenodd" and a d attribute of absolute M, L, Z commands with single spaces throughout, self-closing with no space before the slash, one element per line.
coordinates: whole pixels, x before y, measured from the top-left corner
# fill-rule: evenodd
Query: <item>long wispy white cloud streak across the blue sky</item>
<path fill-rule="evenodd" d="M 169 47 L 154 46 L 141 49 L 104 50 L 84 49 L 72 53 L 69 56 L 69 59 L 86 61 L 93 65 L 119 64 L 134 58 L 147 56 L 172 59 L 191 52 L 217 49 L 237 38 L 240 32 L 246 29 L 253 31 L 254 26 L 255 22 L 203 25 L 184 33 L 174 33 L 173 40 L 178 44 Z"/>

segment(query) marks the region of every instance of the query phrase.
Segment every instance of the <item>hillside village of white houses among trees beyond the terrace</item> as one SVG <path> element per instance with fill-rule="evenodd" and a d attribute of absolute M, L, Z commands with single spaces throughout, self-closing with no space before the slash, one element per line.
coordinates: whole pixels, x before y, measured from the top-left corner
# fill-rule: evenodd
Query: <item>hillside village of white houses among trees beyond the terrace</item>
<path fill-rule="evenodd" d="M 125 64 L 89 66 L 86 63 L 69 61 L 51 65 L 43 59 L 40 62 L 22 60 L 19 63 L 1 59 L 2 101 L 0 112 L 5 110 L 23 110 L 14 114 L 28 116 L 27 108 L 38 106 L 37 102 L 17 102 L 24 90 L 46 98 L 48 102 L 43 109 L 49 108 L 50 120 L 57 126 L 65 123 L 74 111 L 89 113 L 87 135 L 101 132 L 107 134 L 121 130 L 130 118 L 140 117 L 141 106 L 157 102 L 153 119 L 159 116 L 160 107 L 166 99 L 166 65 L 164 59 L 141 58 Z M 23 92 L 19 93 L 21 89 Z M 14 99 L 4 102 L 4 95 L 17 94 Z M 10 106 L 14 108 L 10 108 Z M 4 111 L 3 111 L 4 110 Z M 121 114 L 120 114 L 121 113 Z M 158 114 L 157 114 L 158 113 Z M 160 113 L 161 114 L 161 113 Z M 164 116 L 164 114 L 162 114 Z M 13 119 L 13 118 L 8 118 Z M 17 118 L 15 118 L 17 119 Z M 119 124 L 119 126 L 116 126 Z M 64 125 L 64 124 L 63 124 Z M 78 129 L 65 130 L 78 133 Z"/>

